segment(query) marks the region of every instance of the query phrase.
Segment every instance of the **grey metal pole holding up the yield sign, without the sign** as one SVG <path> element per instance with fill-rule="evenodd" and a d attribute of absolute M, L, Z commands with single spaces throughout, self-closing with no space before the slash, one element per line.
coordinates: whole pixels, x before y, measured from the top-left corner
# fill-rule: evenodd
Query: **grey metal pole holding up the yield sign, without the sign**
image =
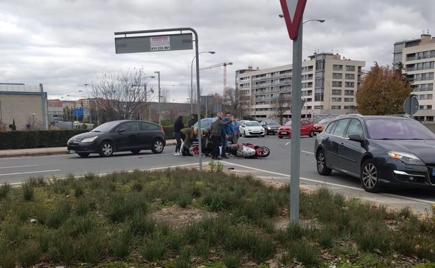
<path fill-rule="evenodd" d="M 291 78 L 291 164 L 290 164 L 290 222 L 299 221 L 300 175 L 300 90 L 302 79 L 302 24 L 293 40 L 293 70 Z"/>

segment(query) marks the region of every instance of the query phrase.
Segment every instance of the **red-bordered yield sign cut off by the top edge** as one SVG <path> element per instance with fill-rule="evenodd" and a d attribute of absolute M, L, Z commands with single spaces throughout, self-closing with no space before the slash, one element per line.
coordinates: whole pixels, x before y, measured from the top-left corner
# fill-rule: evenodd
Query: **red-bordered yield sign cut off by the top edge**
<path fill-rule="evenodd" d="M 282 13 L 291 40 L 298 38 L 298 30 L 307 0 L 280 0 Z"/>

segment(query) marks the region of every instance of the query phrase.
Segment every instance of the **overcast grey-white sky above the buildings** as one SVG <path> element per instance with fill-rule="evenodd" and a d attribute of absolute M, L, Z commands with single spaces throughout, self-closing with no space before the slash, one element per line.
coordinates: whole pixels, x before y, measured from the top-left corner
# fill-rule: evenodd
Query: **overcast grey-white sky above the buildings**
<path fill-rule="evenodd" d="M 314 51 L 366 62 L 392 63 L 393 43 L 435 29 L 433 0 L 308 0 L 303 57 Z M 194 50 L 115 54 L 114 31 L 189 26 L 198 31 L 200 67 L 233 62 L 238 69 L 291 63 L 279 0 L 0 0 L 0 83 L 43 84 L 49 98 L 73 95 L 105 72 L 143 67 L 162 84 L 190 84 Z M 221 93 L 223 68 L 201 71 L 203 93 Z M 157 79 L 149 81 L 157 83 Z M 186 101 L 186 86 L 167 86 Z"/>

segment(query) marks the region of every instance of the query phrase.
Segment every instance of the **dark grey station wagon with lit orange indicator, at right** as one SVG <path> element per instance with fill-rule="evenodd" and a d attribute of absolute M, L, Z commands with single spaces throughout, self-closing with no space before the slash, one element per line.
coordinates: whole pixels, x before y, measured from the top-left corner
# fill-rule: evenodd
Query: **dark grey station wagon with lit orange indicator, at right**
<path fill-rule="evenodd" d="M 366 191 L 435 187 L 435 134 L 411 118 L 342 116 L 317 135 L 316 168 L 360 178 Z"/>

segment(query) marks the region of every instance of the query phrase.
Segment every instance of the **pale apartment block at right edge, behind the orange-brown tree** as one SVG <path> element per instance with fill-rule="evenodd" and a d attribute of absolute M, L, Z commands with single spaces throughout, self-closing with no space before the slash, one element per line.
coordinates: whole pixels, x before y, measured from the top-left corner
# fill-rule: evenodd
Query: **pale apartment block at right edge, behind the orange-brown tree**
<path fill-rule="evenodd" d="M 404 73 L 412 82 L 413 94 L 420 109 L 413 116 L 420 121 L 434 121 L 435 37 L 422 34 L 420 39 L 395 42 L 393 65 L 404 65 Z"/>

